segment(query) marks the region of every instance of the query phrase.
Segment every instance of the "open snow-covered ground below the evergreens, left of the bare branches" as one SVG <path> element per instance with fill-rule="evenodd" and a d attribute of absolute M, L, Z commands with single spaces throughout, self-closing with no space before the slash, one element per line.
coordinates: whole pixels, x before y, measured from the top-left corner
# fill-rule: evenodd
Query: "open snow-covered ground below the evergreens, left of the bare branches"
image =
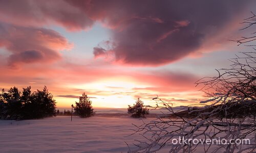
<path fill-rule="evenodd" d="M 132 123 L 142 122 L 126 115 L 0 120 L 0 152 L 127 152 L 125 141 L 140 138 L 125 137 L 133 133 Z"/>

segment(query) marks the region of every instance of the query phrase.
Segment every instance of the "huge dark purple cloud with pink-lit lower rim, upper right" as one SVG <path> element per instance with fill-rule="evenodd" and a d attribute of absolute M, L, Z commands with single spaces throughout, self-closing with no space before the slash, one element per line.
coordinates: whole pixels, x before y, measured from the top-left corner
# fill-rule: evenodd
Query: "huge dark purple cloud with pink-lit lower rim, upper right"
<path fill-rule="evenodd" d="M 197 52 L 218 36 L 251 2 L 243 1 L 67 1 L 112 29 L 116 62 L 161 65 Z M 85 9 L 89 6 L 90 9 Z M 239 22 L 239 20 L 238 20 Z"/>

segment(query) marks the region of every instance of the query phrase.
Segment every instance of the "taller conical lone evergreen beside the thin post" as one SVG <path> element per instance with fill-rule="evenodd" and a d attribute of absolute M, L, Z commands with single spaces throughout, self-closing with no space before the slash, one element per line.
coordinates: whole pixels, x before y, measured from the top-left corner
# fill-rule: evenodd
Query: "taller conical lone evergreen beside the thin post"
<path fill-rule="evenodd" d="M 92 107 L 92 101 L 83 93 L 82 96 L 79 97 L 79 103 L 76 102 L 76 106 L 74 107 L 75 114 L 79 117 L 90 117 L 94 115 Z"/>

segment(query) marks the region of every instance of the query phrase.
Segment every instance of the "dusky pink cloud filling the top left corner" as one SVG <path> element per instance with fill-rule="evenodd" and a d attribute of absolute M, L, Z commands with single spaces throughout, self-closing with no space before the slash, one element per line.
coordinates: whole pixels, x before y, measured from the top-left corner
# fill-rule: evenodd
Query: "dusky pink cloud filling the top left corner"
<path fill-rule="evenodd" d="M 87 29 L 94 23 L 86 13 L 62 0 L 1 1 L 0 18 L 4 22 L 29 27 L 58 24 L 70 31 Z"/>

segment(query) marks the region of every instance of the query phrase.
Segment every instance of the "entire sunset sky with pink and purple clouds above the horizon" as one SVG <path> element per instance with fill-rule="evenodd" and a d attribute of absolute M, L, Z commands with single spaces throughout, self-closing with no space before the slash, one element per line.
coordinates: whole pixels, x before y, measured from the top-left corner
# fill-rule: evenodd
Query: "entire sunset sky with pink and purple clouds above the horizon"
<path fill-rule="evenodd" d="M 47 86 L 58 108 L 199 103 L 256 1 L 0 1 L 0 88 Z"/>

